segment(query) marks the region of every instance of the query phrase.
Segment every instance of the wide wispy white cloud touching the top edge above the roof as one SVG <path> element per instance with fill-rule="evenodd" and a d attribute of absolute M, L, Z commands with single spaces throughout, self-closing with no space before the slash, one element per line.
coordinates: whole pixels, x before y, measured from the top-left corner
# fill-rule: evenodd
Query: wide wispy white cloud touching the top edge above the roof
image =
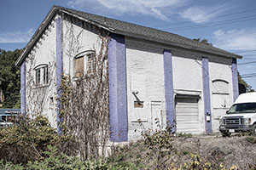
<path fill-rule="evenodd" d="M 73 8 L 90 6 L 114 14 L 148 14 L 160 20 L 169 20 L 168 14 L 185 2 L 187 0 L 70 0 L 68 4 Z"/>

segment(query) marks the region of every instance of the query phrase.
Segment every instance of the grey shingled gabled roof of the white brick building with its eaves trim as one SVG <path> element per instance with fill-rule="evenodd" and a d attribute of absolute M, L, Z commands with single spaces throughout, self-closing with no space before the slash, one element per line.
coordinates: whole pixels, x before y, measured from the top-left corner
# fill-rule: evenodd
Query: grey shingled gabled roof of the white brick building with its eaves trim
<path fill-rule="evenodd" d="M 64 13 L 73 15 L 80 20 L 84 20 L 92 25 L 99 26 L 102 29 L 108 30 L 113 33 L 129 36 L 129 37 L 138 37 L 145 40 L 165 43 L 168 45 L 176 46 L 179 48 L 187 48 L 194 51 L 200 51 L 207 54 L 217 54 L 224 57 L 238 58 L 241 59 L 241 55 L 232 54 L 220 48 L 215 48 L 210 45 L 196 42 L 186 37 L 179 36 L 166 31 L 156 30 L 154 28 L 149 28 L 146 26 L 138 26 L 131 24 L 129 22 L 114 20 L 107 17 L 103 17 L 96 14 L 84 13 L 82 11 L 64 8 L 60 6 L 53 6 L 49 14 L 44 18 L 44 21 L 39 26 L 36 33 L 33 35 L 30 42 L 27 43 L 25 50 L 20 54 L 19 59 L 16 61 L 15 65 L 21 65 L 23 60 L 26 58 L 26 54 L 29 53 L 33 44 L 37 42 L 38 37 L 44 31 L 45 27 L 49 24 L 49 21 L 55 16 L 56 13 Z"/>

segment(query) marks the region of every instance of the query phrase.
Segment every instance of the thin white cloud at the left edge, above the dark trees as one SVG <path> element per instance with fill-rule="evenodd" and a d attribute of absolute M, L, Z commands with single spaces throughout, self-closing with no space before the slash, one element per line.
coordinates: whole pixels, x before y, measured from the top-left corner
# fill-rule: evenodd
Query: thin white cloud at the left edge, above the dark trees
<path fill-rule="evenodd" d="M 28 42 L 33 35 L 33 29 L 28 31 L 13 31 L 0 33 L 0 43 Z"/>

